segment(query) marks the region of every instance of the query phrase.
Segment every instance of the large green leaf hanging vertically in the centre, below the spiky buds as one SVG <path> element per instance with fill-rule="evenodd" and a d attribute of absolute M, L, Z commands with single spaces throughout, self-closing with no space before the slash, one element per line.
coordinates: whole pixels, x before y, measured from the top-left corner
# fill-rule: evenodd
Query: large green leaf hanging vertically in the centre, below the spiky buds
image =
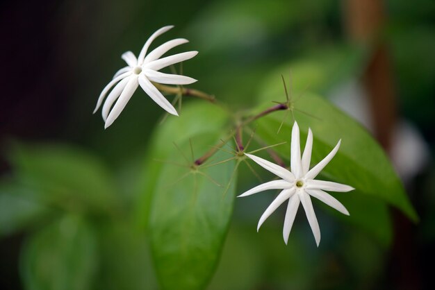
<path fill-rule="evenodd" d="M 153 194 L 149 230 L 162 289 L 204 289 L 215 271 L 234 202 L 235 162 L 192 164 L 220 143 L 228 120 L 221 108 L 192 104 L 154 136 L 148 160 L 163 161 L 151 161 L 145 179 Z M 229 157 L 218 151 L 208 163 Z"/>

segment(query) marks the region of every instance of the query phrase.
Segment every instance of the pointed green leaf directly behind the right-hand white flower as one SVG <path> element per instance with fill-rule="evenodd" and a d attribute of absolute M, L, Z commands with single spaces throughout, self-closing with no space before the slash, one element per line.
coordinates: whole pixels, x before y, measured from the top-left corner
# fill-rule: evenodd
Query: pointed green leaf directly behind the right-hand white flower
<path fill-rule="evenodd" d="M 286 146 L 277 146 L 276 149 L 280 155 L 289 159 L 290 131 L 293 126 L 291 117 L 287 117 L 277 134 L 285 113 L 274 112 L 259 120 L 256 133 L 270 144 L 288 141 Z M 418 220 L 388 157 L 359 123 L 325 99 L 313 94 L 306 94 L 295 102 L 294 115 L 299 124 L 302 143 L 308 129 L 313 130 L 311 167 L 320 162 L 341 139 L 336 157 L 322 171 L 324 178 L 354 187 L 356 190 L 348 193 L 349 195 L 375 196 L 399 208 L 413 221 Z"/>

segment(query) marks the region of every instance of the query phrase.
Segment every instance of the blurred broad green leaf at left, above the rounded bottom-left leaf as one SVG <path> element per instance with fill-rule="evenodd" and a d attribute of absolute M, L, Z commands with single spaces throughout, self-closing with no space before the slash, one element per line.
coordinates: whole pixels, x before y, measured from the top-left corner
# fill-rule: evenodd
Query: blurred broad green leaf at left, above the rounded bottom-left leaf
<path fill-rule="evenodd" d="M 106 168 L 92 155 L 61 145 L 15 146 L 17 176 L 42 194 L 45 202 L 67 210 L 88 207 L 110 211 L 117 205 Z"/>

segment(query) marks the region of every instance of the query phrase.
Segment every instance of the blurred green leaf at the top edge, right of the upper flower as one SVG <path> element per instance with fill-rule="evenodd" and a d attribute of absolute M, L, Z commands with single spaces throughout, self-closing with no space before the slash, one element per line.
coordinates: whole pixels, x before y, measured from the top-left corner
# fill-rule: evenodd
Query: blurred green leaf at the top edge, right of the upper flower
<path fill-rule="evenodd" d="M 295 29 L 290 37 L 299 36 L 299 31 L 313 33 L 308 31 L 309 26 L 320 24 L 334 9 L 336 6 L 328 0 L 293 0 L 292 3 L 274 0 L 268 6 L 261 0 L 211 1 L 193 19 L 189 33 L 204 53 L 223 50 L 234 53 L 241 49 L 253 53 L 253 46 L 262 49 L 262 45 L 274 40 L 272 37 L 284 37 L 280 33 L 286 32 L 288 37 L 289 29 Z"/>

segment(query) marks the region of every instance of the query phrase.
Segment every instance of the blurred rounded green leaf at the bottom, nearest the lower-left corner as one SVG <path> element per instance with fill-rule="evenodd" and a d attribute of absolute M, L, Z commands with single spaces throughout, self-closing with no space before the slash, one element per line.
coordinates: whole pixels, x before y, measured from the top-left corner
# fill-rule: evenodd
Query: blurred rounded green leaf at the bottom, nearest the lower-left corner
<path fill-rule="evenodd" d="M 20 269 L 26 289 L 92 289 L 96 250 L 94 233 L 78 216 L 52 223 L 24 245 Z"/>

